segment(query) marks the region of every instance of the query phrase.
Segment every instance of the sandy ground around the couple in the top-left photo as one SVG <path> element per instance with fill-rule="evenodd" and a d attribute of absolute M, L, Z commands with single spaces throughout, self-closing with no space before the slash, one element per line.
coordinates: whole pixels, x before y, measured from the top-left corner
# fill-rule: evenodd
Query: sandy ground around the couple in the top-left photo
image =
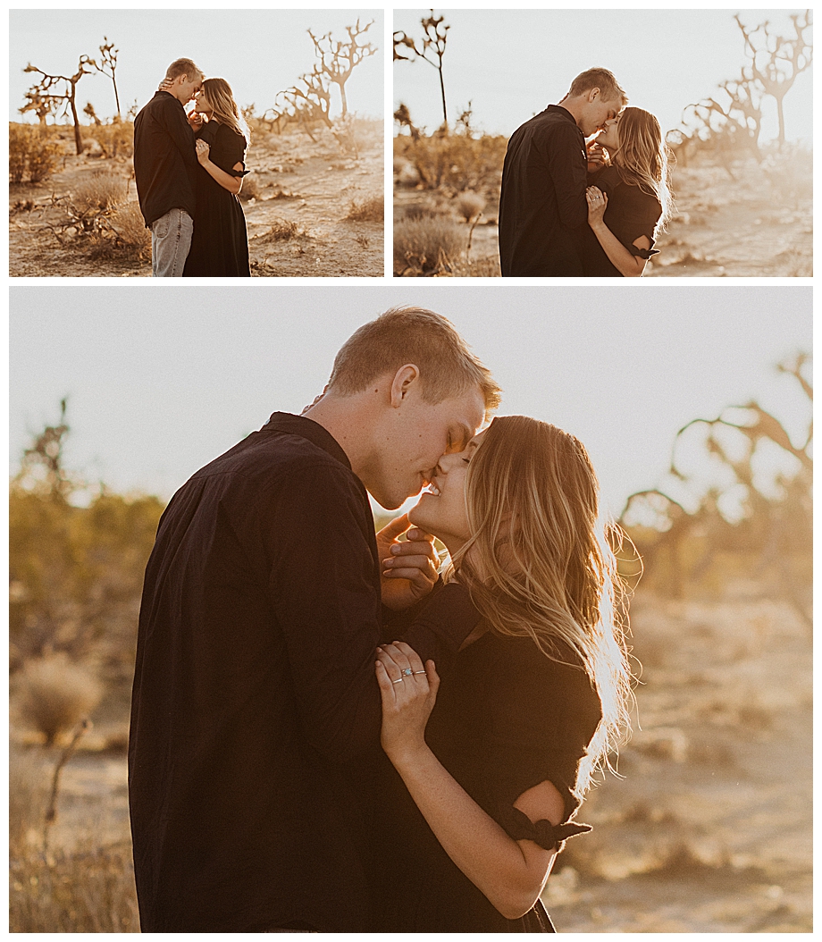
<path fill-rule="evenodd" d="M 249 232 L 251 274 L 254 277 L 370 276 L 383 268 L 382 221 L 346 219 L 352 203 L 383 192 L 382 128 L 362 125 L 359 152 L 344 154 L 330 132 L 281 136 L 259 132 L 252 140 L 244 187 L 256 197 L 243 203 Z M 62 216 L 51 208 L 51 197 L 71 192 L 94 171 L 110 170 L 131 176 L 131 162 L 67 154 L 64 166 L 40 185 L 9 188 L 9 275 L 40 277 L 150 277 L 150 261 L 92 259 L 82 240 L 61 246 L 45 228 Z M 129 198 L 137 199 L 133 179 Z M 27 206 L 33 203 L 34 209 Z M 15 205 L 26 208 L 15 210 Z M 288 238 L 275 238 L 287 231 Z"/>

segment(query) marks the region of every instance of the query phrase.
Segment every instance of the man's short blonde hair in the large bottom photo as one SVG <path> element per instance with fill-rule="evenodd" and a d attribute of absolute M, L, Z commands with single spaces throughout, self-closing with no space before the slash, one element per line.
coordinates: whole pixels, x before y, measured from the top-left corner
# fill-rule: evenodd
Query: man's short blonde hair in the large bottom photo
<path fill-rule="evenodd" d="M 393 307 L 353 333 L 334 359 L 329 389 L 342 396 L 361 393 L 386 373 L 413 364 L 420 370 L 423 398 L 432 404 L 472 387 L 485 399 L 486 412 L 500 400 L 500 388 L 440 314 L 421 307 Z"/>

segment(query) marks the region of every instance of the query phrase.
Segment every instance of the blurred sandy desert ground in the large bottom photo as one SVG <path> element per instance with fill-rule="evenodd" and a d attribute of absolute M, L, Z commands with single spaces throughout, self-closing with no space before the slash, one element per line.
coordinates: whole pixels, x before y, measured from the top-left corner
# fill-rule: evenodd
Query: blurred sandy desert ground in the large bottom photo
<path fill-rule="evenodd" d="M 622 777 L 578 815 L 594 830 L 556 860 L 545 901 L 557 931 L 812 932 L 809 628 L 752 584 L 683 601 L 640 592 L 632 623 L 641 729 Z M 126 861 L 108 905 L 119 931 L 137 932 L 126 715 L 127 697 L 104 703 L 65 766 L 49 853 Z M 13 912 L 27 895 L 13 876 Z"/>

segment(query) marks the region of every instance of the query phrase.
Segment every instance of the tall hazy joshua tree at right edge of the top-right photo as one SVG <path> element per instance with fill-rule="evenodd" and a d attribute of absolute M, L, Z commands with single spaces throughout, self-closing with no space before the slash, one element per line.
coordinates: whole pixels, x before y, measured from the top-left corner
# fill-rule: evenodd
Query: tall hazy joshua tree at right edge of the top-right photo
<path fill-rule="evenodd" d="M 749 57 L 744 76 L 760 83 L 767 95 L 776 100 L 780 122 L 779 145 L 785 142 L 785 116 L 783 102 L 799 73 L 810 68 L 814 60 L 814 47 L 810 32 L 813 26 L 811 10 L 791 15 L 794 24 L 793 36 L 779 36 L 766 20 L 754 28 L 745 26 L 739 14 L 733 16 L 745 37 L 745 49 Z"/>

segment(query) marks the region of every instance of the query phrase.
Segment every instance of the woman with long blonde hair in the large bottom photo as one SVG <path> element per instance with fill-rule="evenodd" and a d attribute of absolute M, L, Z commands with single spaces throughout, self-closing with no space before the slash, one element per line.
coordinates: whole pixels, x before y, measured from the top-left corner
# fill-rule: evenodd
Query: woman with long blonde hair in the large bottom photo
<path fill-rule="evenodd" d="M 398 773 L 379 815 L 380 929 L 554 932 L 540 892 L 564 839 L 589 830 L 572 817 L 631 697 L 588 454 L 554 426 L 497 418 L 443 456 L 409 516 L 443 540 L 483 618 L 442 689 L 407 644 L 378 649 Z"/>

